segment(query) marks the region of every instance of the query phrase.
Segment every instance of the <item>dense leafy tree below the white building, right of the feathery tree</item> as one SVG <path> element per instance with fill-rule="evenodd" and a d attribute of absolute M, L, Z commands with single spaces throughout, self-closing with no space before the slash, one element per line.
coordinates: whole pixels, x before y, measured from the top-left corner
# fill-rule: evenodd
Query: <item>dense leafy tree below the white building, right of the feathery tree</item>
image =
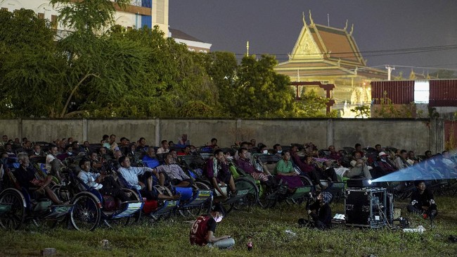
<path fill-rule="evenodd" d="M 184 44 L 177 44 L 174 39 L 165 38 L 158 27 L 112 32 L 110 37 L 127 38 L 143 46 L 147 64 L 141 69 L 147 77 L 137 87 L 137 92 L 129 97 L 138 96 L 137 104 L 142 101 L 143 110 L 148 110 L 146 116 L 190 115 L 192 103 L 195 108 L 205 106 L 204 109 L 211 109 L 210 113 L 200 113 L 200 117 L 209 117 L 216 111 L 217 89 L 205 73 L 200 54 L 188 51 Z M 155 106 L 155 109 L 149 106 Z"/>

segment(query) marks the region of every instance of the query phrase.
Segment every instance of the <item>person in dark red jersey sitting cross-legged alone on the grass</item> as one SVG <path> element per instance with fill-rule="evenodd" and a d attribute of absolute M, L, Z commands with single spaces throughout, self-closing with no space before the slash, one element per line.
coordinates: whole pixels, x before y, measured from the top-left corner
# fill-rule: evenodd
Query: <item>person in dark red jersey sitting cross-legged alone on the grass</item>
<path fill-rule="evenodd" d="M 192 245 L 219 247 L 219 249 L 231 248 L 235 245 L 235 240 L 229 236 L 214 236 L 217 223 L 224 218 L 224 207 L 220 204 L 214 206 L 209 215 L 202 215 L 193 222 L 190 241 Z"/>

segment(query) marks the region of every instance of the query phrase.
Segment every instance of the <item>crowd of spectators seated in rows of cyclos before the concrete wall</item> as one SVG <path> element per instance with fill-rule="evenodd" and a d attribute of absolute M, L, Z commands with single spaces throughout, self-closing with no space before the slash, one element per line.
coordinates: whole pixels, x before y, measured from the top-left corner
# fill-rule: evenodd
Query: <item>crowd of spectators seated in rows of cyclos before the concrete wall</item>
<path fill-rule="evenodd" d="M 355 144 L 354 148 L 346 147 L 340 151 L 337 151 L 335 146 L 318 150 L 313 143 L 290 146 L 275 144 L 269 149 L 262 143 L 256 145 L 254 139 L 237 143 L 236 147 L 233 147 L 236 151 L 224 151 L 217 145 L 217 139 L 213 138 L 210 142 L 211 144 L 200 148 L 214 154 L 204 165 L 205 174 L 215 191 L 224 198 L 237 194 L 233 175 L 228 168 L 228 163 L 231 162 L 269 188 L 287 185 L 289 194 L 303 186 L 300 175 L 309 177 L 318 189 L 324 190 L 328 184 L 341 181 L 344 177 L 373 179 L 421 162 L 425 163 L 425 168 L 420 171 L 422 173 L 431 169 L 442 170 L 444 173 L 457 171 L 457 163 L 448 151 L 435 156 L 432 156 L 431 151 L 426 151 L 424 156 L 418 158 L 413 151 L 382 148 L 380 144 L 376 144 L 374 148 L 362 148 L 361 144 Z M 60 182 L 63 181 L 61 167 L 65 165 L 67 158 L 75 156 L 81 157 L 79 179 L 103 194 L 111 195 L 120 201 L 128 201 L 130 197 L 122 191 L 117 177 L 105 174 L 105 165 L 109 163 L 123 178 L 123 186 L 138 189 L 146 199 L 179 199 L 179 194 L 165 195 L 153 186 L 156 184 L 162 188 L 171 184 L 176 187 L 193 187 L 193 179 L 181 168 L 177 159 L 179 156 L 198 155 L 198 148 L 190 144 L 187 134 L 183 134 L 177 144 L 162 140 L 159 147 L 148 146 L 144 137 L 134 143 L 121 137 L 117 142 L 115 134 L 104 135 L 99 144 L 89 144 L 86 141 L 82 145 L 72 137 L 44 144 L 32 143 L 27 138 L 23 138 L 22 142 L 18 138 L 8 140 L 4 135 L 0 142 L 0 152 L 0 177 L 4 176 L 4 165 L 7 163 L 5 160 L 16 159 L 20 165 L 15 170 L 15 177 L 20 185 L 33 189 L 37 194 L 46 194 L 53 203 L 60 204 L 62 202 L 49 189 L 50 177 L 54 176 Z M 279 161 L 274 169 L 269 169 L 265 163 L 253 161 L 254 154 L 277 156 Z M 34 179 L 33 171 L 30 170 L 30 160 L 34 158 L 44 160 L 44 169 L 49 176 L 43 180 Z M 224 186 L 227 187 L 226 192 L 221 189 Z M 425 189 L 425 185 L 417 184 L 417 188 L 418 192 L 425 192 L 428 197 L 427 200 L 420 201 L 435 204 L 433 199 L 430 202 L 430 192 Z M 320 197 L 321 206 L 315 206 L 316 209 L 326 208 L 328 203 L 326 194 Z M 415 197 L 417 199 L 408 210 L 420 212 L 422 207 L 416 203 L 420 202 L 418 199 L 421 196 Z M 431 209 L 436 210 L 435 207 Z M 436 213 L 428 212 L 429 215 Z M 323 227 L 328 221 L 322 222 L 324 225 L 315 225 Z"/>

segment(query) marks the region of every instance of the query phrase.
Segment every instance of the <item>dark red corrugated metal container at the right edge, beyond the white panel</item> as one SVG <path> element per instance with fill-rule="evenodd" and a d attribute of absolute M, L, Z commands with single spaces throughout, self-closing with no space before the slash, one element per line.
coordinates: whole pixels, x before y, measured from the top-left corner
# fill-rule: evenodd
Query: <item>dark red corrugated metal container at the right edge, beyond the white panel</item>
<path fill-rule="evenodd" d="M 457 106 L 457 80 L 430 80 L 429 106 Z"/>

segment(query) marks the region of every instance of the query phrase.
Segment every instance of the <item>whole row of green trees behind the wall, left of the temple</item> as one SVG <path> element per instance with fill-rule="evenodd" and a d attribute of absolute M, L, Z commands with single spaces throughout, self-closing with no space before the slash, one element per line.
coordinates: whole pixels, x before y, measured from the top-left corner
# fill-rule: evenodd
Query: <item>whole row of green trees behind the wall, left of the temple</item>
<path fill-rule="evenodd" d="M 233 53 L 188 51 L 158 27 L 113 25 L 115 8 L 107 0 L 51 4 L 72 30 L 63 39 L 33 11 L 0 11 L 4 118 L 312 116 L 314 109 L 295 102 L 289 77 L 273 70 L 274 56 L 238 63 Z"/>

